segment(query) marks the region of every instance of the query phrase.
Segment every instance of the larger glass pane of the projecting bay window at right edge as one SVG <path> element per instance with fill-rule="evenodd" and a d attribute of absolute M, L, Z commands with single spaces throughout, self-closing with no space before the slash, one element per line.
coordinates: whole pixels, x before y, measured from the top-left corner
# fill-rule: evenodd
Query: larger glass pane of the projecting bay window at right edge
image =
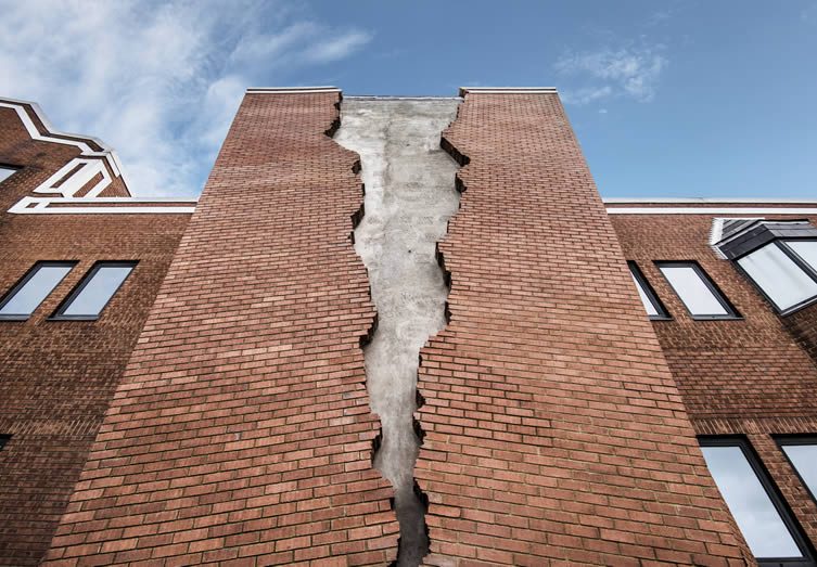
<path fill-rule="evenodd" d="M 817 295 L 817 282 L 776 244 L 748 254 L 738 263 L 778 309 L 788 309 Z"/>

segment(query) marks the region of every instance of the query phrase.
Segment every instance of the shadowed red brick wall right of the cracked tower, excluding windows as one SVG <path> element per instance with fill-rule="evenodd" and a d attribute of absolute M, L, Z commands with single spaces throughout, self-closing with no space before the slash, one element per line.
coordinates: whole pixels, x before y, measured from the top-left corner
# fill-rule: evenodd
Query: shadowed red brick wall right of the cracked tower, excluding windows
<path fill-rule="evenodd" d="M 709 246 L 712 219 L 724 215 L 703 212 L 610 218 L 626 258 L 637 261 L 673 317 L 653 326 L 692 425 L 699 434 L 748 436 L 807 537 L 817 543 L 817 505 L 771 438 L 817 433 L 817 368 L 809 345 L 799 344 L 790 332 L 795 324 L 809 332 L 817 308 L 778 317 L 732 262 L 717 258 Z M 697 260 L 742 319 L 693 321 L 654 260 Z"/>

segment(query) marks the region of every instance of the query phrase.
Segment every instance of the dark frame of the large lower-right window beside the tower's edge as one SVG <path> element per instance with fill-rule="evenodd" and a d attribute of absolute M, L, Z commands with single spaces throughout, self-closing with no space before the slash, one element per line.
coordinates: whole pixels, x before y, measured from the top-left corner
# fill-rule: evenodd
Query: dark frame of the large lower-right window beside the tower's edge
<path fill-rule="evenodd" d="M 752 472 L 761 482 L 763 490 L 771 501 L 771 505 L 775 506 L 775 510 L 780 515 L 780 519 L 786 526 L 786 529 L 789 530 L 794 543 L 803 554 L 802 557 L 755 557 L 757 564 L 761 567 L 814 567 L 817 565 L 817 563 L 815 563 L 815 556 L 817 556 L 817 554 L 815 553 L 812 542 L 805 536 L 803 527 L 797 521 L 789 503 L 783 498 L 783 494 L 773 480 L 771 475 L 764 466 L 761 456 L 754 450 L 754 447 L 752 447 L 749 439 L 743 435 L 701 435 L 698 437 L 698 443 L 701 447 L 738 447 L 741 450 L 750 468 L 752 468 Z M 712 476 L 712 473 L 710 473 L 710 476 Z M 714 481 L 715 477 L 712 478 Z M 717 482 L 715 482 L 715 486 L 717 486 Z M 718 492 L 719 491 L 720 489 L 718 489 Z M 723 494 L 720 498 L 723 499 Z M 726 500 L 724 500 L 724 502 L 726 502 Z M 727 504 L 727 510 L 728 507 Z M 729 513 L 731 514 L 731 512 Z"/>

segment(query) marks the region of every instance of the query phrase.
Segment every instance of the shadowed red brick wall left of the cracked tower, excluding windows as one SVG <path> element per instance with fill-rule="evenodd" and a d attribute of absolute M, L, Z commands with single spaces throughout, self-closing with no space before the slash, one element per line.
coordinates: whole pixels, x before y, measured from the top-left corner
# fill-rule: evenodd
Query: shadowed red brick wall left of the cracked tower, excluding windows
<path fill-rule="evenodd" d="M 46 553 L 189 215 L 10 215 L 78 154 L 34 142 L 0 109 L 0 295 L 38 260 L 79 263 L 25 322 L 0 321 L 0 564 Z M 48 321 L 97 260 L 139 260 L 98 321 Z"/>

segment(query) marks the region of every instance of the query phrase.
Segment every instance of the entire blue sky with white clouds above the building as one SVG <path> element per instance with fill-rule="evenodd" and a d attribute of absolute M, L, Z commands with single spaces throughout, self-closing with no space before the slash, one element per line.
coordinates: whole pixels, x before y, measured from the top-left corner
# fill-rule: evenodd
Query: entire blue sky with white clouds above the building
<path fill-rule="evenodd" d="M 604 196 L 817 198 L 817 0 L 0 0 L 0 94 L 197 194 L 250 86 L 556 86 Z"/>

